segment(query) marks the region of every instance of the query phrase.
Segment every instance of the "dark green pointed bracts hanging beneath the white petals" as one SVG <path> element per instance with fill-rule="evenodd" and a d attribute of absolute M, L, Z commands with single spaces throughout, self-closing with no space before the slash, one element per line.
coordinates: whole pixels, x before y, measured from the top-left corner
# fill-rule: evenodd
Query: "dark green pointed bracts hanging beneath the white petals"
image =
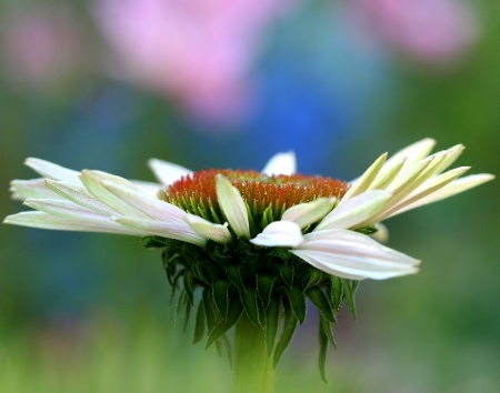
<path fill-rule="evenodd" d="M 329 344 L 336 345 L 332 326 L 344 302 L 356 316 L 357 282 L 330 276 L 290 254 L 284 248 L 261 248 L 246 240 L 234 244 L 208 241 L 202 249 L 177 240 L 147 238 L 148 248 L 162 248 L 163 268 L 178 309 L 189 318 L 196 309 L 193 343 L 226 347 L 227 333 L 244 313 L 264 332 L 269 357 L 277 366 L 296 329 L 307 318 L 310 300 L 320 313 L 320 372 Z M 200 293 L 198 295 L 197 293 Z"/>

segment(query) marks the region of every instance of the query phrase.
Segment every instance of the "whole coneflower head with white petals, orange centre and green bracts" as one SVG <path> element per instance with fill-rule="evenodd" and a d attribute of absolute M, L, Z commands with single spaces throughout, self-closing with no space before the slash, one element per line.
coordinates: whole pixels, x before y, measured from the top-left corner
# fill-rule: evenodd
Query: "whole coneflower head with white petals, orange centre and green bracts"
<path fill-rule="evenodd" d="M 351 182 L 298 174 L 293 153 L 276 155 L 262 172 L 191 172 L 151 160 L 161 184 L 28 159 L 42 179 L 14 180 L 11 190 L 37 211 L 4 222 L 143 236 L 146 246 L 164 249 L 188 313 L 201 289 L 197 340 L 206 328 L 208 344 L 220 340 L 244 312 L 266 330 L 277 363 L 306 318 L 306 299 L 320 311 L 323 351 L 343 301 L 354 313 L 359 280 L 417 272 L 418 260 L 374 240 L 380 221 L 493 178 L 458 180 L 469 168 L 443 172 L 463 147 L 428 155 L 433 144 L 424 139 L 389 160 L 382 154 Z"/>

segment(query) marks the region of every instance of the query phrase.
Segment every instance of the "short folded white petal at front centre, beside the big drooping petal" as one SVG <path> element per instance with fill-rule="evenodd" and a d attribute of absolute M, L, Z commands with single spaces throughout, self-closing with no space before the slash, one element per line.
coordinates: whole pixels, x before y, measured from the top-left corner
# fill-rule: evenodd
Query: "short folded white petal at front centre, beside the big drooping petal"
<path fill-rule="evenodd" d="M 274 221 L 250 242 L 262 246 L 299 246 L 303 241 L 300 226 L 291 221 Z"/>

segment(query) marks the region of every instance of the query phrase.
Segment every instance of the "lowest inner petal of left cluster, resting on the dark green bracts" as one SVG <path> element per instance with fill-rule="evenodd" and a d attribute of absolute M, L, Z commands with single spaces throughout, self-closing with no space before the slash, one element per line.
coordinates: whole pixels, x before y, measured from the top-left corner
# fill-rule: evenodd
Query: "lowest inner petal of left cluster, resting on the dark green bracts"
<path fill-rule="evenodd" d="M 132 216 L 117 216 L 114 221 L 123 226 L 132 228 L 148 234 L 180 240 L 199 246 L 203 246 L 207 243 L 207 239 L 199 235 L 187 222 L 171 223 Z"/>

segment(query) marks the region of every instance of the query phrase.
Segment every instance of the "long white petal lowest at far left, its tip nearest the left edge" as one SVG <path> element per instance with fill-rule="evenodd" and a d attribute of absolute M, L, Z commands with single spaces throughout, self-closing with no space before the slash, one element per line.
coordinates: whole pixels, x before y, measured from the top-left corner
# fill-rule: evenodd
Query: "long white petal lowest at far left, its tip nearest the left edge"
<path fill-rule="evenodd" d="M 87 221 L 82 219 L 63 218 L 44 212 L 22 212 L 12 214 L 3 221 L 6 224 L 58 230 L 58 231 L 80 231 L 80 232 L 102 232 L 131 234 L 134 236 L 147 235 L 147 232 L 121 226 L 110 221 Z"/>

